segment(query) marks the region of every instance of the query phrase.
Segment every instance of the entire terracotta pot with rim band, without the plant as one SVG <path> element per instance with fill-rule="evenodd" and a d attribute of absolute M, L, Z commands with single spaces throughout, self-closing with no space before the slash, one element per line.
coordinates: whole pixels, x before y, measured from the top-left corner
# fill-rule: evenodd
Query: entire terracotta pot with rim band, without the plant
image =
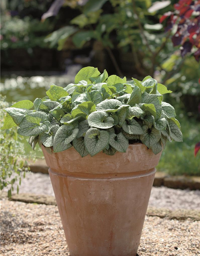
<path fill-rule="evenodd" d="M 42 147 L 71 256 L 136 256 L 161 153 L 81 156 Z"/>

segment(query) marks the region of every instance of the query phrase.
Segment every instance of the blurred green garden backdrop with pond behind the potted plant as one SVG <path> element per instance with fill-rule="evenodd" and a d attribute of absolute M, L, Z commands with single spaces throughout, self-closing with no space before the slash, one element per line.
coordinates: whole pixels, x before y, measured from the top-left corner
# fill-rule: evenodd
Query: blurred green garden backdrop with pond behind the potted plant
<path fill-rule="evenodd" d="M 45 96 L 50 84 L 65 87 L 84 66 L 142 79 L 151 75 L 173 93 L 183 142 L 166 146 L 158 171 L 200 175 L 200 65 L 180 56 L 159 19 L 178 1 L 1 0 L 0 90 L 11 104 Z M 172 31 L 173 33 L 173 31 Z M 32 148 L 22 139 L 26 154 Z M 37 146 L 36 156 L 42 157 Z"/>

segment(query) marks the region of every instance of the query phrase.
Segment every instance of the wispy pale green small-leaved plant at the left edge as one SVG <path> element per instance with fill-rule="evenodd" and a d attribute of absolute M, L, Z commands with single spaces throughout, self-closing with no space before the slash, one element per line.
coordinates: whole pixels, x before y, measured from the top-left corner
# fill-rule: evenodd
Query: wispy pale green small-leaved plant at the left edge
<path fill-rule="evenodd" d="M 26 102 L 26 100 L 24 101 Z M 18 106 L 14 104 L 13 106 Z M 14 184 L 17 183 L 17 192 L 21 184 L 21 179 L 25 176 L 28 170 L 27 162 L 24 160 L 24 144 L 20 142 L 20 137 L 17 134 L 17 129 L 2 130 L 4 120 L 7 119 L 8 123 L 12 122 L 12 118 L 6 115 L 4 111 L 8 108 L 8 103 L 5 101 L 5 97 L 1 97 L 0 100 L 0 190 L 6 188 L 8 190 L 8 197 L 11 196 L 14 190 Z M 13 124 L 13 126 L 16 126 Z"/>

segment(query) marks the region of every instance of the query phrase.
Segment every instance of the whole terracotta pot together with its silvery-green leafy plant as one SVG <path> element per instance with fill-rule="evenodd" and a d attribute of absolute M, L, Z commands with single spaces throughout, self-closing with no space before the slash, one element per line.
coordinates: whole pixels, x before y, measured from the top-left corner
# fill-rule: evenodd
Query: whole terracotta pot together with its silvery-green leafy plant
<path fill-rule="evenodd" d="M 86 67 L 6 108 L 4 128 L 42 146 L 71 256 L 136 255 L 155 166 L 167 140 L 182 141 L 170 92 Z"/>

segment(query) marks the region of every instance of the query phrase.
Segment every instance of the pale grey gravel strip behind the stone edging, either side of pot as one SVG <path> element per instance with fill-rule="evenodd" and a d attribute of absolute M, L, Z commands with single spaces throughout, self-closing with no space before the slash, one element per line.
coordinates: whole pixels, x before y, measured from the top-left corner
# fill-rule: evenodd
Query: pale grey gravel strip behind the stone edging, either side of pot
<path fill-rule="evenodd" d="M 47 194 L 54 196 L 48 174 L 30 173 L 22 180 L 20 193 Z M 149 206 L 157 208 L 200 209 L 200 190 L 180 190 L 153 187 Z"/>

